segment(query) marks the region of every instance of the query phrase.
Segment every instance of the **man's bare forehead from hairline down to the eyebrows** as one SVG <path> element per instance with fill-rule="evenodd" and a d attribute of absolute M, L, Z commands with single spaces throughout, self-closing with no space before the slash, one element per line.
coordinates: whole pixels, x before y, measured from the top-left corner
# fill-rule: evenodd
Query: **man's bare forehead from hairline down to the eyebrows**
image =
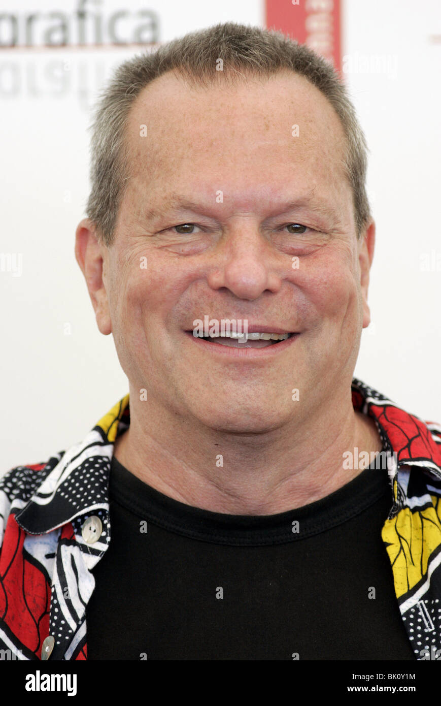
<path fill-rule="evenodd" d="M 262 171 L 272 174 L 276 187 L 307 177 L 308 186 L 325 184 L 330 174 L 346 180 L 339 118 L 325 96 L 293 72 L 237 85 L 220 80 L 209 88 L 169 72 L 140 93 L 128 132 L 131 176 L 149 191 L 167 189 L 170 179 L 181 189 L 183 177 L 207 171 L 210 181 L 231 189 L 243 188 L 243 174 Z"/>

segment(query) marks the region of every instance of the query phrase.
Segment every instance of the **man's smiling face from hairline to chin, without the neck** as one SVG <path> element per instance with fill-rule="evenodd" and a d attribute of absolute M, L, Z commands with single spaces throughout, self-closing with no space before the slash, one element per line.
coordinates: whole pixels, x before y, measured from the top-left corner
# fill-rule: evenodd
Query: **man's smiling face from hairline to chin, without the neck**
<path fill-rule="evenodd" d="M 350 384 L 369 323 L 332 106 L 293 73 L 209 89 L 167 73 L 138 96 L 127 134 L 133 177 L 102 248 L 97 322 L 131 392 L 224 431 L 313 414 Z M 227 347 L 193 336 L 205 316 L 296 335 Z"/>

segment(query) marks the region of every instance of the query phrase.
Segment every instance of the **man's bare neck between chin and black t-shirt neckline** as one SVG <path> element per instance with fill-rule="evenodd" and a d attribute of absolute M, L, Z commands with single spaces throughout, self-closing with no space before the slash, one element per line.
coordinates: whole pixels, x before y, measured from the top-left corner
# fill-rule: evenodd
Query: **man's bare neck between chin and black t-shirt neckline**
<path fill-rule="evenodd" d="M 340 410 L 337 424 L 314 419 L 300 442 L 273 432 L 238 437 L 209 430 L 192 437 L 188 429 L 167 434 L 162 426 L 159 433 L 159 424 L 155 433 L 143 421 L 131 409 L 129 429 L 114 445 L 121 465 L 170 498 L 231 515 L 272 515 L 320 500 L 366 467 L 344 467 L 345 452 L 357 447 L 370 458 L 382 450 L 373 419 L 351 405 L 346 414 Z"/>

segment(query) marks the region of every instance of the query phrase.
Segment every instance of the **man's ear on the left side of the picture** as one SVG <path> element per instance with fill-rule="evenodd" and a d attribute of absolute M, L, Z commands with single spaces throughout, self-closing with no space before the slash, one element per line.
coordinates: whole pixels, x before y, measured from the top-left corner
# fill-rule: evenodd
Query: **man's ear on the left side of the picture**
<path fill-rule="evenodd" d="M 84 218 L 75 232 L 75 258 L 85 277 L 90 300 L 95 310 L 99 331 L 105 336 L 111 333 L 109 294 L 107 292 L 104 265 L 107 266 L 108 251 L 99 242 L 95 223 Z"/>

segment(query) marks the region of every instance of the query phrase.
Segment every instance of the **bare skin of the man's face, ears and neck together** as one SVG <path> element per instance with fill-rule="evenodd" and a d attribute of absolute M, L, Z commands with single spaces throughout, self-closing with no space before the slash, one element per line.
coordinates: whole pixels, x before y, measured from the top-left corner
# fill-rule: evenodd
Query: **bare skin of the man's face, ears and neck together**
<path fill-rule="evenodd" d="M 116 457 L 188 505 L 269 515 L 351 480 L 343 450 L 382 448 L 351 402 L 374 226 L 356 238 L 343 129 L 317 88 L 218 76 L 201 90 L 170 71 L 139 93 L 114 242 L 85 220 L 76 253 L 130 384 Z M 204 316 L 289 338 L 232 347 L 193 336 Z"/>

